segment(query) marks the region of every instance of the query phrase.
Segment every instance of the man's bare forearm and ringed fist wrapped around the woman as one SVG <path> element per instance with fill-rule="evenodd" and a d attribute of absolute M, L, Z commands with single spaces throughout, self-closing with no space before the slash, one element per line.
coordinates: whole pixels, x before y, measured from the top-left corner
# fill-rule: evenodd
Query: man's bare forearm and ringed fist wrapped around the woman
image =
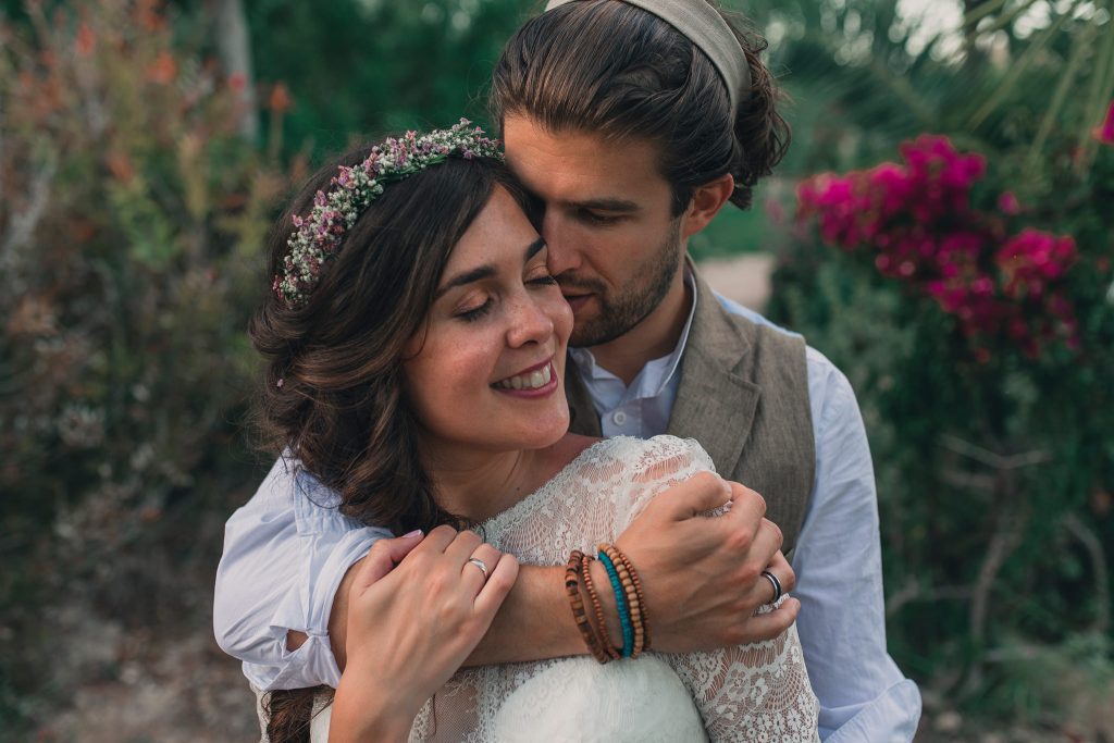
<path fill-rule="evenodd" d="M 703 516 L 723 505 L 725 487 L 732 493 L 732 509 L 723 517 Z M 793 623 L 800 606 L 795 599 L 775 612 L 754 615 L 758 606 L 770 600 L 770 584 L 761 570 L 773 565 L 781 547 L 781 532 L 763 518 L 764 512 L 765 502 L 754 491 L 737 483 L 725 486 L 719 477 L 702 473 L 655 498 L 618 536 L 616 545 L 638 566 L 646 588 L 647 608 L 655 623 L 655 649 L 690 653 L 770 639 Z M 629 548 L 624 546 L 627 541 Z M 782 564 L 779 578 L 792 587 L 792 573 L 783 559 Z M 589 569 L 608 635 L 622 637 L 606 571 L 598 561 Z M 349 575 L 352 573 L 350 568 Z M 329 620 L 333 655 L 342 671 L 349 583 L 345 576 Z M 586 653 L 569 608 L 565 568 L 522 566 L 487 635 L 465 665 Z"/>

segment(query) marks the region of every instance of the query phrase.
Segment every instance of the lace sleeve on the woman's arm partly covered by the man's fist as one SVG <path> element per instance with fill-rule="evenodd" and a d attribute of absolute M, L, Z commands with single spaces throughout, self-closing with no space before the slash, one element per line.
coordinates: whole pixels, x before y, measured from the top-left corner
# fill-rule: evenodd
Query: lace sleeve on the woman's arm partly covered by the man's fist
<path fill-rule="evenodd" d="M 628 509 L 625 516 L 616 515 L 617 531 L 670 486 L 696 472 L 714 471 L 698 443 L 673 437 L 645 442 L 633 461 Z M 772 609 L 764 606 L 759 612 Z M 692 695 L 712 741 L 819 740 L 819 704 L 804 668 L 795 626 L 762 643 L 663 657 Z"/>

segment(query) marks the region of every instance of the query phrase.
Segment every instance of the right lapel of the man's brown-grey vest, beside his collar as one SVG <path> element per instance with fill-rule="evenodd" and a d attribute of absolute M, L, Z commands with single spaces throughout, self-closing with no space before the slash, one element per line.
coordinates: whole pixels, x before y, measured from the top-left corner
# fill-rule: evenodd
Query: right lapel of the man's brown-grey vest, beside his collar
<path fill-rule="evenodd" d="M 666 432 L 700 441 L 716 471 L 730 478 L 750 438 L 761 389 L 747 379 L 745 329 L 731 321 L 695 268 L 693 276 L 696 314 Z"/>

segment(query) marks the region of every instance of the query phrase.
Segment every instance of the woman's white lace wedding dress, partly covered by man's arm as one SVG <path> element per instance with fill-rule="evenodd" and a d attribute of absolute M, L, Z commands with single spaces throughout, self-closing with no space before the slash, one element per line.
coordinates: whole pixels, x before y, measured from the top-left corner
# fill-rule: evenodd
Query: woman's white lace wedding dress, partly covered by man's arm
<path fill-rule="evenodd" d="M 564 565 L 574 549 L 612 541 L 670 485 L 711 469 L 693 440 L 607 439 L 480 531 L 522 564 Z M 710 653 L 463 669 L 426 703 L 410 740 L 798 743 L 819 740 L 818 711 L 793 626 Z M 314 718 L 315 742 L 328 739 L 328 708 Z"/>

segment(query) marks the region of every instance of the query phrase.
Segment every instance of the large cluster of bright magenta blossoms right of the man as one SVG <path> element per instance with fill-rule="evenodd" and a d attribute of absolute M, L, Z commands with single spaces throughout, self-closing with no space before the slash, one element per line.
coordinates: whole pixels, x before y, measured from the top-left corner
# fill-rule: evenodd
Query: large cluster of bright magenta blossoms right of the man
<path fill-rule="evenodd" d="M 1107 124 L 1114 143 L 1114 107 Z M 1077 350 L 1077 322 L 1062 287 L 1076 262 L 1074 239 L 1033 228 L 1007 237 L 999 216 L 970 205 L 985 158 L 957 151 L 947 137 L 905 143 L 901 158 L 803 180 L 799 224 L 814 222 L 829 245 L 869 252 L 879 273 L 935 301 L 956 319 L 980 363 L 1001 342 L 1029 358 L 1057 338 Z M 998 213 L 1020 212 L 1012 192 L 998 197 Z"/>

